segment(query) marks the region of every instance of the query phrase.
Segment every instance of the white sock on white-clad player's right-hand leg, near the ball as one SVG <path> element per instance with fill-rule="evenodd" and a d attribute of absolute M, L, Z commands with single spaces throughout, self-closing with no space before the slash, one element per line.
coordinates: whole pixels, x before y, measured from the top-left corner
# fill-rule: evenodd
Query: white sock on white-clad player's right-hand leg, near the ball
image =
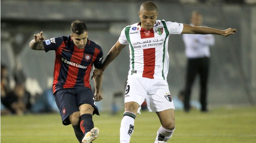
<path fill-rule="evenodd" d="M 175 129 L 173 130 L 164 129 L 164 127 L 161 126 L 157 130 L 157 138 L 155 138 L 155 143 L 157 141 L 168 141 L 172 137 L 172 133 L 174 132 L 174 130 Z"/>

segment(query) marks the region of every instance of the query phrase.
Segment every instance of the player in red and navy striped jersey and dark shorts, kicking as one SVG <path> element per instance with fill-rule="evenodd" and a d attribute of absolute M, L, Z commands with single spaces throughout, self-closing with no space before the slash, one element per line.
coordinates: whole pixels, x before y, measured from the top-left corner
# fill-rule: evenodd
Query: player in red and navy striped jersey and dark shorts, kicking
<path fill-rule="evenodd" d="M 99 134 L 92 121 L 93 114 L 99 115 L 95 101 L 103 97 L 100 92 L 102 78 L 94 79 L 93 94 L 90 72 L 92 65 L 101 67 L 103 51 L 88 39 L 86 24 L 79 20 L 72 22 L 71 35 L 44 39 L 43 32 L 35 34 L 29 45 L 33 50 L 55 51 L 53 92 L 62 123 L 73 126 L 80 143 L 91 143 Z"/>

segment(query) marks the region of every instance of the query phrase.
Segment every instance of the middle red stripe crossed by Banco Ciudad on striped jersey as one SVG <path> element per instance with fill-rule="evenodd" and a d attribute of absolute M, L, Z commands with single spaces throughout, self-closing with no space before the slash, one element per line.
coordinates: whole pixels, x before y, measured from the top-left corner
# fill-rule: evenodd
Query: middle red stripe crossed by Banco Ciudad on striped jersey
<path fill-rule="evenodd" d="M 75 50 L 73 51 L 73 54 L 71 56 L 70 61 L 77 64 L 77 63 L 81 63 L 82 59 L 84 57 L 84 49 L 78 49 L 77 47 L 75 47 Z M 76 65 L 69 65 L 69 69 L 67 72 L 67 79 L 65 84 L 63 85 L 63 88 L 70 88 L 70 87 L 74 87 L 77 81 L 77 74 L 78 74 L 78 70 L 79 68 L 76 67 Z"/>

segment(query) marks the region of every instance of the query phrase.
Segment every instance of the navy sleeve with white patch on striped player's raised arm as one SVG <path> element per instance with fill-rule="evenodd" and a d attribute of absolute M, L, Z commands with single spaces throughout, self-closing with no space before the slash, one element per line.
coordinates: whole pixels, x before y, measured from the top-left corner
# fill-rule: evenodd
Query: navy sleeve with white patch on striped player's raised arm
<path fill-rule="evenodd" d="M 63 37 L 50 38 L 43 41 L 43 46 L 45 47 L 45 52 L 50 50 L 56 50 L 63 42 Z"/>

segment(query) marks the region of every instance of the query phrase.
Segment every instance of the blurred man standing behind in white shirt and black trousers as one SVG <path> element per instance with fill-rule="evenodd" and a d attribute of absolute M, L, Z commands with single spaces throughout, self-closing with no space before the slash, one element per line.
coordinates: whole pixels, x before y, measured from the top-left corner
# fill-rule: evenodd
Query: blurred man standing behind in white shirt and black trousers
<path fill-rule="evenodd" d="M 202 25 L 203 16 L 197 11 L 191 14 L 192 26 Z M 190 97 L 192 85 L 196 76 L 200 78 L 200 103 L 201 111 L 207 112 L 207 83 L 210 68 L 210 46 L 215 44 L 215 38 L 212 34 L 183 34 L 185 43 L 185 54 L 187 56 L 187 71 L 185 77 L 185 96 L 184 110 L 190 110 Z"/>

